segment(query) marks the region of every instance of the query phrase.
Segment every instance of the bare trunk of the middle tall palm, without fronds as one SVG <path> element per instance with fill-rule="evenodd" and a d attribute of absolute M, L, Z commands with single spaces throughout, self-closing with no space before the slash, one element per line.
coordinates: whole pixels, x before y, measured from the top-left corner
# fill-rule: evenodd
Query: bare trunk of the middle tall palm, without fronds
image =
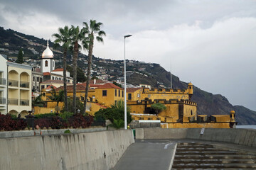
<path fill-rule="evenodd" d="M 73 52 L 73 112 L 76 114 L 76 83 L 77 83 L 77 60 L 78 60 L 78 41 L 75 41 Z"/>

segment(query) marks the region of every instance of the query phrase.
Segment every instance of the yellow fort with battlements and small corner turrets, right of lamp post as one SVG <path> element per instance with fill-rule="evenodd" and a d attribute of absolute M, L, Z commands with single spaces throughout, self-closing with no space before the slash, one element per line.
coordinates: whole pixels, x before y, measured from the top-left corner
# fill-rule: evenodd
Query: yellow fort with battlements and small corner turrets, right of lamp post
<path fill-rule="evenodd" d="M 197 104 L 191 101 L 193 84 L 188 89 L 128 88 L 127 106 L 134 120 L 161 120 L 162 128 L 232 128 L 235 113 L 230 115 L 198 115 Z M 151 105 L 162 103 L 166 110 L 156 114 Z"/>

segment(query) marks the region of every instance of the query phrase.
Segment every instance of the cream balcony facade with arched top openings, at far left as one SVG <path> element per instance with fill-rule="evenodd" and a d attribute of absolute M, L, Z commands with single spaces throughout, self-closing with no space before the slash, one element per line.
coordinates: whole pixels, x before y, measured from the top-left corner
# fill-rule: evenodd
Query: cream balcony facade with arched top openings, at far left
<path fill-rule="evenodd" d="M 7 62 L 8 84 L 7 112 L 21 117 L 31 111 L 32 67 L 25 64 Z"/>

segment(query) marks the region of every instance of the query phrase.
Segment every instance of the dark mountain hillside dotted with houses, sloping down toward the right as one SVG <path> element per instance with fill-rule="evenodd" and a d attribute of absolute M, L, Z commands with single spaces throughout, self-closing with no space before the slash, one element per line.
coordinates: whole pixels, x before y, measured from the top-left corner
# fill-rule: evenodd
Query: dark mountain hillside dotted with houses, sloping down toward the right
<path fill-rule="evenodd" d="M 49 42 L 53 47 L 53 42 Z M 23 49 L 25 64 L 38 67 L 43 50 L 46 49 L 46 40 L 36 38 L 33 35 L 25 35 L 15 30 L 0 27 L 0 53 L 16 60 L 18 50 Z M 56 68 L 62 66 L 62 52 L 53 49 Z M 71 53 L 68 55 L 68 64 L 72 65 Z M 79 54 L 78 67 L 86 72 L 87 55 Z M 123 81 L 124 61 L 105 60 L 100 57 L 92 57 L 92 76 L 109 81 Z M 133 85 L 149 84 L 155 88 L 169 88 L 170 72 L 167 72 L 160 64 L 127 60 L 127 82 Z M 174 89 L 186 89 L 186 82 L 172 75 Z M 193 80 L 191 80 L 193 83 Z M 235 110 L 238 125 L 256 125 L 256 112 L 243 106 L 232 106 L 228 99 L 220 94 L 211 94 L 194 86 L 192 101 L 198 103 L 198 114 L 219 115 L 229 114 Z"/>

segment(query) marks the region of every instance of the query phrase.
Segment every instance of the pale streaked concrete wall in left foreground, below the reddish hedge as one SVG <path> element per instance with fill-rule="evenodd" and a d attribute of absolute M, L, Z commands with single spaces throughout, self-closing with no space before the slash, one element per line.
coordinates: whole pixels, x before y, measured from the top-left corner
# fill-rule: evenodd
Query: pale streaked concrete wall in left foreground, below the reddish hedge
<path fill-rule="evenodd" d="M 110 169 L 133 142 L 132 130 L 0 138 L 0 169 Z"/>

